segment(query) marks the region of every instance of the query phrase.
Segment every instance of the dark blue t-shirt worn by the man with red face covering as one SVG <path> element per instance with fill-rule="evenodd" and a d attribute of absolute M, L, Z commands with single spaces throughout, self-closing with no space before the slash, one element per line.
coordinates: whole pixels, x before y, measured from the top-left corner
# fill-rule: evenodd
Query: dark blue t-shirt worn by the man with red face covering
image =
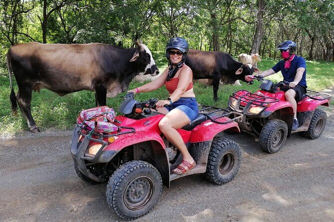
<path fill-rule="evenodd" d="M 306 61 L 303 57 L 295 55 L 295 58 L 291 61 L 291 65 L 289 69 L 284 68 L 284 60 L 279 61 L 275 66 L 273 66 L 273 70 L 275 73 L 281 71 L 283 75 L 283 80 L 288 82 L 294 82 L 295 76 L 297 74 L 298 68 L 305 68 L 303 73 L 303 77 L 298 85 L 307 88 L 306 85 Z"/>

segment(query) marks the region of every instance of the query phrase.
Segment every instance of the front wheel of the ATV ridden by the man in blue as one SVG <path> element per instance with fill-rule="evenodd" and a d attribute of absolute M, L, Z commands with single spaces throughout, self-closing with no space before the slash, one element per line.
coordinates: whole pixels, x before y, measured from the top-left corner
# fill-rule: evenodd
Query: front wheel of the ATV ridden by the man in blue
<path fill-rule="evenodd" d="M 288 125 L 279 119 L 271 119 L 262 128 L 259 143 L 263 151 L 275 153 L 281 149 L 288 135 Z"/>

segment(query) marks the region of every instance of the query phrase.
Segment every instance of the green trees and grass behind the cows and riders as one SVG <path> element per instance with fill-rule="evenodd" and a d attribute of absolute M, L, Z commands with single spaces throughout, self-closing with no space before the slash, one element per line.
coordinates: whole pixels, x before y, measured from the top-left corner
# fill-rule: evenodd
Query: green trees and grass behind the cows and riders
<path fill-rule="evenodd" d="M 0 0 L 0 134 L 27 128 L 21 115 L 10 110 L 10 84 L 5 55 L 16 43 L 100 42 L 134 47 L 141 40 L 152 51 L 160 71 L 167 67 L 165 46 L 170 37 L 187 39 L 190 48 L 240 53 L 259 53 L 260 70 L 280 59 L 277 46 L 291 39 L 298 55 L 307 59 L 308 86 L 324 90 L 334 85 L 333 0 Z M 277 74 L 273 80 L 280 81 Z M 17 92 L 15 80 L 14 91 Z M 199 103 L 226 107 L 232 92 L 256 91 L 259 83 L 219 89 L 212 99 L 212 86 L 194 85 Z M 133 89 L 142 83 L 132 81 Z M 110 98 L 116 109 L 123 94 Z M 166 98 L 159 89 L 138 95 L 139 100 Z M 32 94 L 31 111 L 40 128 L 70 129 L 79 111 L 95 105 L 88 91 L 64 97 L 48 91 Z M 331 102 L 332 103 L 332 102 Z"/>

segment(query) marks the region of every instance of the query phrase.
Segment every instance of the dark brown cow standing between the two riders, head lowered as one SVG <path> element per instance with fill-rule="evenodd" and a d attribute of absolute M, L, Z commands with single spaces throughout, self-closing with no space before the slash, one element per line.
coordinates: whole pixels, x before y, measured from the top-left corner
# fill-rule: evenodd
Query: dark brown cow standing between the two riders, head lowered
<path fill-rule="evenodd" d="M 213 80 L 213 99 L 218 100 L 217 92 L 220 80 L 224 83 L 245 81 L 245 76 L 252 75 L 259 70 L 252 64 L 241 63 L 225 52 L 208 52 L 190 49 L 186 64 L 192 69 L 194 79 Z"/>

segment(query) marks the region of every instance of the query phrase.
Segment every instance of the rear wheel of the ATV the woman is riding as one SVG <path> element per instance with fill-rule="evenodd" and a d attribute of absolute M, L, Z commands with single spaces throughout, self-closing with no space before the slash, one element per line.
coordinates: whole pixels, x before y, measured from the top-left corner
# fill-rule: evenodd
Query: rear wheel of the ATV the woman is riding
<path fill-rule="evenodd" d="M 216 137 L 211 144 L 205 177 L 215 184 L 226 184 L 238 173 L 241 159 L 236 142 Z"/>

